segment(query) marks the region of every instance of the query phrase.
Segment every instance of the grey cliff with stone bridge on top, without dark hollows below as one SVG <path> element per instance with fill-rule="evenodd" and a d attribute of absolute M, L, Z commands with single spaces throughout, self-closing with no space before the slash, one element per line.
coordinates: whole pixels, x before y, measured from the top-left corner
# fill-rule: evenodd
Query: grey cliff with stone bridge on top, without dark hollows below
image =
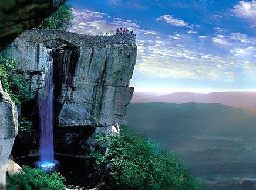
<path fill-rule="evenodd" d="M 31 91 L 44 84 L 49 55 L 43 42 L 48 40 L 68 44 L 53 49 L 58 125 L 123 123 L 133 95 L 129 80 L 136 63 L 135 36 L 86 36 L 62 30 L 25 32 L 2 55 L 18 60 L 19 72 L 31 80 Z"/>

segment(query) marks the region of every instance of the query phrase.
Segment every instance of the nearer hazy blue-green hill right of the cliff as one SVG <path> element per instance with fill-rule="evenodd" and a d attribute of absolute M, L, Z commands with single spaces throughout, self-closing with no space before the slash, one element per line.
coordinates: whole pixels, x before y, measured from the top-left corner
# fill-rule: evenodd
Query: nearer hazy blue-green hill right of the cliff
<path fill-rule="evenodd" d="M 139 103 L 130 127 L 183 157 L 201 177 L 255 175 L 256 115 L 218 103 Z"/>

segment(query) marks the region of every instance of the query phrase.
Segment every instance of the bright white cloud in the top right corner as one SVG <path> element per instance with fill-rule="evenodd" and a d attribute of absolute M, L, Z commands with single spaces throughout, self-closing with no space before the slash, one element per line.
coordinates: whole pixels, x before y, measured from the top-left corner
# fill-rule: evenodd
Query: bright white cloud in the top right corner
<path fill-rule="evenodd" d="M 232 12 L 235 16 L 248 19 L 252 22 L 251 26 L 256 26 L 256 1 L 240 1 L 234 6 Z"/>

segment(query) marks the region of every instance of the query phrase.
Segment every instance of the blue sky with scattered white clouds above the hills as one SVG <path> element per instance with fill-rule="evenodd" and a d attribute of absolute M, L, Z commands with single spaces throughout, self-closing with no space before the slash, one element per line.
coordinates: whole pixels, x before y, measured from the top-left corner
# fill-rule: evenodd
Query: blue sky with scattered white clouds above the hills
<path fill-rule="evenodd" d="M 137 92 L 256 91 L 256 1 L 69 0 L 72 32 L 137 35 Z"/>

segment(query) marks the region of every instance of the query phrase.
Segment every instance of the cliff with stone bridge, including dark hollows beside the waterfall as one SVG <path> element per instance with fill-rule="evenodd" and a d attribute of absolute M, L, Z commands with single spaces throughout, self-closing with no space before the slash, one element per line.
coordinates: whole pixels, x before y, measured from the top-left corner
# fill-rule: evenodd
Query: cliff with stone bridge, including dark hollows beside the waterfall
<path fill-rule="evenodd" d="M 50 53 L 49 53 L 50 52 Z M 85 156 L 89 137 L 100 129 L 124 123 L 133 95 L 129 87 L 136 63 L 136 36 L 86 36 L 62 30 L 28 30 L 0 56 L 18 60 L 17 73 L 25 75 L 30 91 L 46 84 L 48 60 L 53 60 L 55 85 L 55 151 Z M 21 105 L 23 115 L 38 125 L 38 99 Z M 37 126 L 38 127 L 38 126 Z M 36 130 L 31 136 L 38 136 Z M 38 150 L 36 137 L 18 136 L 12 154 Z"/>

